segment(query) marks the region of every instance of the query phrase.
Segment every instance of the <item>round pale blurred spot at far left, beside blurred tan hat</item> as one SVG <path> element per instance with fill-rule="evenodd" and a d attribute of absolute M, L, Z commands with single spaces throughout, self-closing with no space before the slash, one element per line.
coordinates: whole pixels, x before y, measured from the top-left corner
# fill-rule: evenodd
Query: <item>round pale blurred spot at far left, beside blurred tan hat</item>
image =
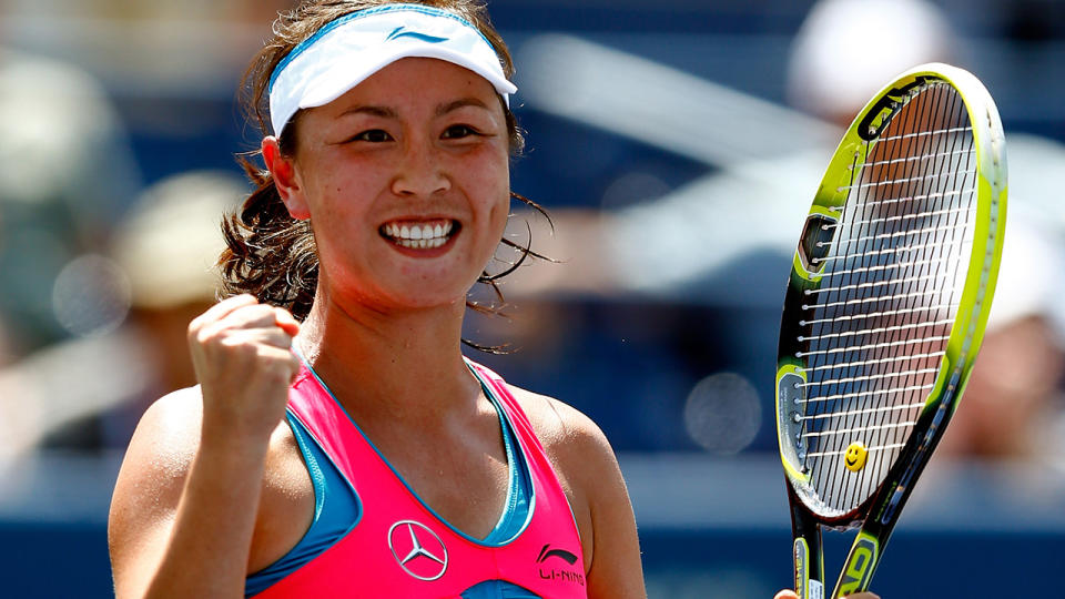
<path fill-rule="evenodd" d="M 94 254 L 79 256 L 55 277 L 52 309 L 73 335 L 110 333 L 130 311 L 130 282 L 113 261 Z"/>

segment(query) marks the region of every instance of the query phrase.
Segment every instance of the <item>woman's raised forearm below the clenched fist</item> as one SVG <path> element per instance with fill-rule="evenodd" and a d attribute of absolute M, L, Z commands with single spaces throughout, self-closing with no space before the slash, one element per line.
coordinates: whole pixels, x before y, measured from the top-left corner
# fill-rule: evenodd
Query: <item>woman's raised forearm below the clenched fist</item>
<path fill-rule="evenodd" d="M 145 597 L 243 597 L 267 443 L 239 437 L 205 427 Z"/>

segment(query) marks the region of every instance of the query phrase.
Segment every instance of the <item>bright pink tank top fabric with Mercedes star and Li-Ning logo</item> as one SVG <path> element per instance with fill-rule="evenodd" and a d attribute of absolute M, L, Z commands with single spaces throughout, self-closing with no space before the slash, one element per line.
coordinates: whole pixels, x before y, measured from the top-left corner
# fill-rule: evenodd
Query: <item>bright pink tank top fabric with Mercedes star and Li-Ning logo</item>
<path fill-rule="evenodd" d="M 486 580 L 545 598 L 587 598 L 577 525 L 544 447 L 503 379 L 468 364 L 497 398 L 528 463 L 534 493 L 524 529 L 503 545 L 488 545 L 436 517 L 304 366 L 288 407 L 355 488 L 362 515 L 333 547 L 256 598 L 454 599 Z"/>

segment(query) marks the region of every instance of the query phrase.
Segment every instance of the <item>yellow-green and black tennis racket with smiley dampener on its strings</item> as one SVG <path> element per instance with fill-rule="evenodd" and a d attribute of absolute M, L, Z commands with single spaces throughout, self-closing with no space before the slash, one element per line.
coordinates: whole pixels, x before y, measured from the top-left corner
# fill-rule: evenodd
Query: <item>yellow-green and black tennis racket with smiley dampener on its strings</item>
<path fill-rule="evenodd" d="M 795 251 L 777 363 L 802 599 L 824 597 L 822 527 L 860 527 L 831 597 L 869 588 L 976 358 L 1005 215 L 998 112 L 961 69 L 900 75 L 832 156 Z"/>

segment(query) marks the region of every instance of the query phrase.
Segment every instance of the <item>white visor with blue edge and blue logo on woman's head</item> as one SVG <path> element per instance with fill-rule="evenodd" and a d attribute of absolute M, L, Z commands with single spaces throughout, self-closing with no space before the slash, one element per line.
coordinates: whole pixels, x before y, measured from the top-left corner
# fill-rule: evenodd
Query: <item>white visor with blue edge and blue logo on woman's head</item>
<path fill-rule="evenodd" d="M 336 100 L 388 64 L 409 57 L 465 67 L 488 80 L 510 105 L 518 89 L 480 31 L 450 12 L 422 4 L 387 4 L 346 14 L 296 45 L 270 81 L 274 134 L 300 109 Z"/>

